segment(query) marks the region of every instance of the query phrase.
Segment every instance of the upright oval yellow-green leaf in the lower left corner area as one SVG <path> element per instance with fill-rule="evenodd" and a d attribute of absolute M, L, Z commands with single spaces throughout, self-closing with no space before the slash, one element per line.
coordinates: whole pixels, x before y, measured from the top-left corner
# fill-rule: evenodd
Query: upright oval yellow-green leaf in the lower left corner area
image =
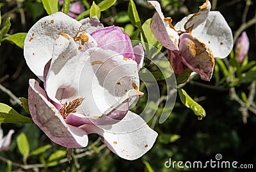
<path fill-rule="evenodd" d="M 24 134 L 23 132 L 20 133 L 19 136 L 17 136 L 16 141 L 17 141 L 17 146 L 19 148 L 19 152 L 23 156 L 23 161 L 26 162 L 26 159 L 29 156 L 29 144 L 28 144 L 28 138 L 26 134 Z"/>

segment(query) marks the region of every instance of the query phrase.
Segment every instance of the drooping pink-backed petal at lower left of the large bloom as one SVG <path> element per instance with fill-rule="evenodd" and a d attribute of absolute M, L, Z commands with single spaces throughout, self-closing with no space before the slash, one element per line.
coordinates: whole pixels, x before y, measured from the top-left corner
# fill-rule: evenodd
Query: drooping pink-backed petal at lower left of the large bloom
<path fill-rule="evenodd" d="M 33 121 L 52 141 L 67 148 L 82 148 L 88 144 L 87 133 L 65 123 L 35 79 L 29 79 L 28 104 Z"/>

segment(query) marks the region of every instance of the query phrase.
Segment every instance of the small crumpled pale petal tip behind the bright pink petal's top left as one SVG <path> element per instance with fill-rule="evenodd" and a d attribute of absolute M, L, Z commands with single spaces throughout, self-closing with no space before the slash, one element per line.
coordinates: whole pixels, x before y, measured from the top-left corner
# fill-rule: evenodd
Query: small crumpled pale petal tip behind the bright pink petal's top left
<path fill-rule="evenodd" d="M 100 23 L 100 20 L 97 18 L 97 16 L 86 18 L 80 20 L 79 22 L 82 24 L 81 31 L 87 31 L 90 34 L 104 27 L 103 24 Z"/>

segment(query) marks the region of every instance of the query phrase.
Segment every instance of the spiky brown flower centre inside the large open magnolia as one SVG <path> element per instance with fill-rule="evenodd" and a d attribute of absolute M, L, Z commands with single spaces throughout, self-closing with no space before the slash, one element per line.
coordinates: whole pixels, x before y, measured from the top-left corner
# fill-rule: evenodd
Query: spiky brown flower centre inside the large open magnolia
<path fill-rule="evenodd" d="M 63 119 L 65 120 L 68 114 L 70 113 L 76 113 L 77 107 L 79 107 L 82 104 L 83 100 L 84 98 L 76 98 L 72 102 L 65 102 L 64 104 L 62 104 L 60 114 L 63 117 Z"/>

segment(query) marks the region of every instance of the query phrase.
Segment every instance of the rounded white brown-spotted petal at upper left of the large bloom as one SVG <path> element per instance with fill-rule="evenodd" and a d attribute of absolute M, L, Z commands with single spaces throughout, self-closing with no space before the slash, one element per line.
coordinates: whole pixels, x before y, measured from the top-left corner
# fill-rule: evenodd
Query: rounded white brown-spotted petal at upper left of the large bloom
<path fill-rule="evenodd" d="M 24 41 L 24 57 L 31 71 L 43 80 L 44 66 L 52 58 L 55 38 L 60 33 L 75 36 L 81 24 L 64 13 L 44 17 L 31 27 Z"/>

